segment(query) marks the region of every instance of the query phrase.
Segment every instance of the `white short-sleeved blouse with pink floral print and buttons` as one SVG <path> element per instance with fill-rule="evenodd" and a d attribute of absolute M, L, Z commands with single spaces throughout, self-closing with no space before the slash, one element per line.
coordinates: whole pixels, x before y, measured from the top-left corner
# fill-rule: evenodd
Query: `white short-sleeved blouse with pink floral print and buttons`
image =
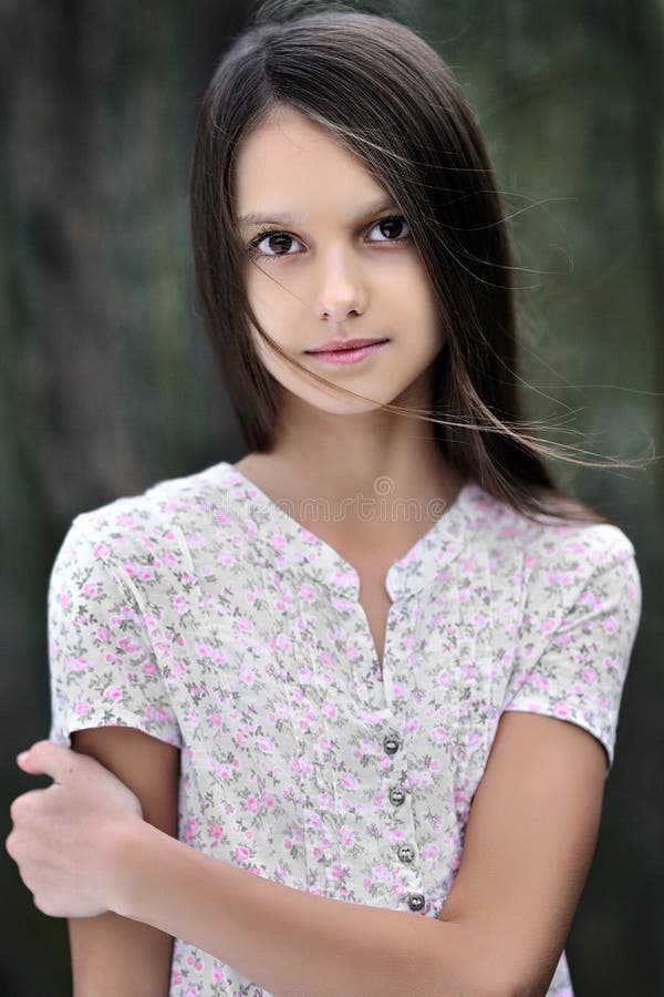
<path fill-rule="evenodd" d="M 175 744 L 181 841 L 436 917 L 502 711 L 579 724 L 609 772 L 640 575 L 616 526 L 532 523 L 469 481 L 386 589 L 381 671 L 355 569 L 225 462 L 80 515 L 51 576 L 50 736 Z M 267 993 L 175 941 L 170 997 Z M 563 952 L 548 995 L 572 993 Z"/>

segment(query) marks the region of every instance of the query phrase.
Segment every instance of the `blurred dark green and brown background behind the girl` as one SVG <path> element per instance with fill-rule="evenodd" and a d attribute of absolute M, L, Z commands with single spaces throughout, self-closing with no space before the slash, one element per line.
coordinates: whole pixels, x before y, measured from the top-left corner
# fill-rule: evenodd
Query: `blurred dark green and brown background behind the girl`
<path fill-rule="evenodd" d="M 324 3 L 322 4 L 324 6 Z M 525 392 L 549 439 L 662 453 L 661 0 L 356 3 L 418 28 L 484 127 L 517 247 Z M 72 517 L 243 453 L 197 316 L 187 173 L 238 0 L 0 0 L 0 830 L 49 727 L 45 592 Z M 546 435 L 546 433 L 542 433 Z M 664 995 L 664 474 L 557 462 L 644 588 L 575 997 Z M 66 925 L 0 856 L 0 993 L 71 993 Z"/>

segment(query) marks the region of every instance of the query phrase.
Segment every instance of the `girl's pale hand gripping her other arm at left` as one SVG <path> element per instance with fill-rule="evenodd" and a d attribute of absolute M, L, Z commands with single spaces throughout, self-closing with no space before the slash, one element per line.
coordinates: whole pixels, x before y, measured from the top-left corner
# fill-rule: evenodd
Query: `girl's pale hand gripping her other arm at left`
<path fill-rule="evenodd" d="M 117 844 L 143 819 L 138 799 L 93 758 L 51 741 L 38 741 L 17 761 L 54 780 L 11 805 L 6 846 L 35 906 L 52 917 L 112 909 Z"/>

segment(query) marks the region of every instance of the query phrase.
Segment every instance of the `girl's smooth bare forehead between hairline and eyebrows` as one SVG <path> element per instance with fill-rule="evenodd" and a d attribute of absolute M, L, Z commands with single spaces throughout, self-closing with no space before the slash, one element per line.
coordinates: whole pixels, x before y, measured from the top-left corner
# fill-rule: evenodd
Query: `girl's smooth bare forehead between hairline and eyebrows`
<path fill-rule="evenodd" d="M 366 165 L 326 129 L 297 111 L 278 115 L 241 142 L 234 171 L 236 217 L 264 210 L 302 217 L 385 194 Z"/>

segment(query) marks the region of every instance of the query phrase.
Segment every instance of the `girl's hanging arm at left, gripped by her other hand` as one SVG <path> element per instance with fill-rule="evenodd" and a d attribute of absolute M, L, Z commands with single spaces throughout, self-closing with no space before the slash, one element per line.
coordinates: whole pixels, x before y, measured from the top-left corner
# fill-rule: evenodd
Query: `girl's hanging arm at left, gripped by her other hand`
<path fill-rule="evenodd" d="M 177 834 L 177 748 L 126 727 L 75 731 L 72 747 L 116 774 L 138 796 L 148 823 Z M 74 997 L 168 994 L 170 935 L 113 913 L 70 918 L 69 933 Z"/>

